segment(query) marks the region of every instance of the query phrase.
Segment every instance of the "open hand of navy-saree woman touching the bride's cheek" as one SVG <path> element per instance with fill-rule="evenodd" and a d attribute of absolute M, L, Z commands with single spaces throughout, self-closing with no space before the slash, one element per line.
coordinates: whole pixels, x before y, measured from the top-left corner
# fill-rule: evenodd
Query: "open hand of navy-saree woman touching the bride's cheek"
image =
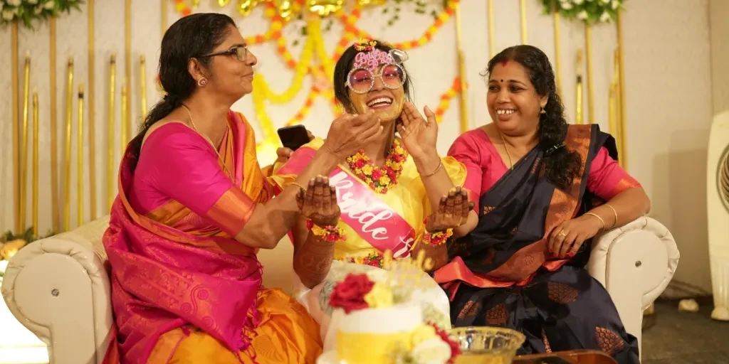
<path fill-rule="evenodd" d="M 413 158 L 424 157 L 426 153 L 435 152 L 435 143 L 438 138 L 438 123 L 435 114 L 428 106 L 423 108 L 427 120 L 418 112 L 413 103 L 407 102 L 402 106 L 397 132 L 402 138 L 402 144 Z"/>

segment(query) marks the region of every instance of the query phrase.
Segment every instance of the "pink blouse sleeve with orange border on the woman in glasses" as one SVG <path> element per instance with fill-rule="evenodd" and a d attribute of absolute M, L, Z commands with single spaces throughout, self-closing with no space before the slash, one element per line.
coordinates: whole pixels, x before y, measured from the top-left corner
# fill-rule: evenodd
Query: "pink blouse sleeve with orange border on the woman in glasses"
<path fill-rule="evenodd" d="M 201 135 L 183 124 L 171 123 L 147 137 L 136 173 L 146 173 L 149 186 L 160 194 L 235 236 L 256 204 L 233 184 L 218 161 Z"/>

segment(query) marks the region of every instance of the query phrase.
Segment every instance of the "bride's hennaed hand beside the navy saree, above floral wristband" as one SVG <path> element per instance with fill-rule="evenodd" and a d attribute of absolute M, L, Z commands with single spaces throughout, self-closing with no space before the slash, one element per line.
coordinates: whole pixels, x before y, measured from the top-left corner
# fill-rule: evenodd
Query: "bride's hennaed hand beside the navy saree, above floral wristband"
<path fill-rule="evenodd" d="M 451 191 L 440 198 L 438 210 L 428 216 L 425 224 L 427 232 L 443 232 L 455 229 L 468 220 L 468 214 L 473 210 L 474 202 L 469 202 L 468 192 L 461 187 Z"/>

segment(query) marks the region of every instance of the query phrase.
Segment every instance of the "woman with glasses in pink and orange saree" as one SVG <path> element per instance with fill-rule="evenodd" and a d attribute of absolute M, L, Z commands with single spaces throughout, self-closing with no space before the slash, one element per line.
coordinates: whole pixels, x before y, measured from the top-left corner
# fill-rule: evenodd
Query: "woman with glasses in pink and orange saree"
<path fill-rule="evenodd" d="M 252 90 L 257 60 L 227 15 L 183 17 L 165 33 L 165 98 L 120 167 L 104 248 L 115 327 L 106 363 L 313 363 L 319 325 L 263 288 L 272 249 L 317 197 L 302 186 L 376 137 L 369 116 L 335 120 L 328 144 L 272 199 L 254 132 L 230 106 Z M 312 184 L 313 183 L 313 184 Z"/>

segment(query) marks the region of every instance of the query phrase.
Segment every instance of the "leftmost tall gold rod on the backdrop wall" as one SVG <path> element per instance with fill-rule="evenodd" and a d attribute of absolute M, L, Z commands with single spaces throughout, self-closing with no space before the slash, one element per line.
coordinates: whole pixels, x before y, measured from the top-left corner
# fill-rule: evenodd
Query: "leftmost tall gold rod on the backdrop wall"
<path fill-rule="evenodd" d="M 20 226 L 20 113 L 18 112 L 18 77 L 17 77 L 17 22 L 10 25 L 10 79 L 12 80 L 12 198 L 15 215 L 15 232 L 23 233 Z"/>

